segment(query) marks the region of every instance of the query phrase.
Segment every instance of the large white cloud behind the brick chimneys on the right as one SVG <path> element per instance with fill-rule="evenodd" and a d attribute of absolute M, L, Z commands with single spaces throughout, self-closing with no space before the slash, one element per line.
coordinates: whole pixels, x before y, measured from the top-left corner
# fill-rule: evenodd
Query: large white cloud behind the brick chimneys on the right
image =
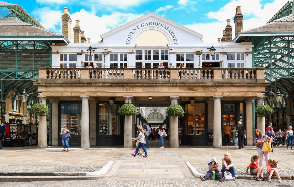
<path fill-rule="evenodd" d="M 281 2 L 283 1 L 283 2 Z M 232 0 L 218 11 L 208 12 L 207 18 L 216 19 L 217 21 L 207 22 L 207 23 L 194 23 L 184 25 L 200 34 L 203 34 L 203 41 L 206 42 L 217 42 L 217 38 L 223 36 L 223 30 L 226 27 L 226 20 L 230 20 L 230 24 L 233 27 L 232 39 L 235 37 L 234 29 L 234 16 L 235 9 L 237 6 L 241 6 L 241 12 L 245 16 L 250 16 L 249 19 L 244 19 L 243 17 L 243 28 L 250 29 L 254 27 L 259 27 L 264 24 L 281 8 L 281 6 L 286 3 L 287 0 L 275 0 L 272 3 L 267 3 L 263 6 L 261 0 Z"/>

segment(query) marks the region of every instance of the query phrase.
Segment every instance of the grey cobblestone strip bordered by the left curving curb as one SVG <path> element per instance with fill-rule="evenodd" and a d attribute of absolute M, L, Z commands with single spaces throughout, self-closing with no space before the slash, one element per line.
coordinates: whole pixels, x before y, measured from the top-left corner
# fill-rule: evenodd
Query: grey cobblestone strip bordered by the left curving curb
<path fill-rule="evenodd" d="M 93 172 L 103 166 L 0 166 L 0 172 Z"/>

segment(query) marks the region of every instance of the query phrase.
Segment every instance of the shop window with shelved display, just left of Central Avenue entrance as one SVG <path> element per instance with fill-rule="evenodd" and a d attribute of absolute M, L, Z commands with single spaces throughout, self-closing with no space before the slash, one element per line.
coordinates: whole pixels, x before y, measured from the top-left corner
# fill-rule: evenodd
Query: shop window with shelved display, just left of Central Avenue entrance
<path fill-rule="evenodd" d="M 99 135 L 120 135 L 120 105 L 99 104 Z"/>

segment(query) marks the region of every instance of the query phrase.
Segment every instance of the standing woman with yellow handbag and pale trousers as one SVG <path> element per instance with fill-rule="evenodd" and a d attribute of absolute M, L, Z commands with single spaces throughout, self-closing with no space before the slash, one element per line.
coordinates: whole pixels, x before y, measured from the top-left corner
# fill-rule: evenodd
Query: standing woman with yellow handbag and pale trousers
<path fill-rule="evenodd" d="M 269 152 L 272 151 L 272 144 L 268 143 L 267 140 L 270 140 L 269 142 L 272 142 L 272 139 L 265 134 L 261 134 L 259 129 L 255 130 L 254 145 L 257 146 L 257 152 L 259 156 L 258 166 L 262 167 L 262 160 L 264 156 L 265 165 L 268 169 Z M 265 147 L 263 148 L 263 146 Z"/>

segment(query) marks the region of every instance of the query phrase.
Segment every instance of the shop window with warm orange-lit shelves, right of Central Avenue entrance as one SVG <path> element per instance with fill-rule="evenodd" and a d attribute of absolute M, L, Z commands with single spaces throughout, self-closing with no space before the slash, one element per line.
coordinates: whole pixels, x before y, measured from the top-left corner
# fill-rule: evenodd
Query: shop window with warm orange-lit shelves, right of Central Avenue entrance
<path fill-rule="evenodd" d="M 185 135 L 205 134 L 205 104 L 185 105 Z"/>

